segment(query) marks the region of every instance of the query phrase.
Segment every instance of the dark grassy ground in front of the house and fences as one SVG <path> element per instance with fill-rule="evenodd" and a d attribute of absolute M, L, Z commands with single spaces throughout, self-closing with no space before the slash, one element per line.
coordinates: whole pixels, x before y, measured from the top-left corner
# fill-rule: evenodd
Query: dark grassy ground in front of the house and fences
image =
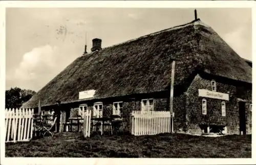
<path fill-rule="evenodd" d="M 95 135 L 83 138 L 81 133 L 66 132 L 30 142 L 6 143 L 6 157 L 248 158 L 251 157 L 251 135 Z"/>

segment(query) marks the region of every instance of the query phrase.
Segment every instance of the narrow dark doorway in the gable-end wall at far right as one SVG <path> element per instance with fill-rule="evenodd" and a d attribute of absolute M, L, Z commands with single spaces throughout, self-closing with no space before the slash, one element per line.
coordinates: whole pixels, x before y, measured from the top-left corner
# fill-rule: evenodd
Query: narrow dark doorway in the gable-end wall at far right
<path fill-rule="evenodd" d="M 246 134 L 245 102 L 239 102 L 239 131 Z"/>

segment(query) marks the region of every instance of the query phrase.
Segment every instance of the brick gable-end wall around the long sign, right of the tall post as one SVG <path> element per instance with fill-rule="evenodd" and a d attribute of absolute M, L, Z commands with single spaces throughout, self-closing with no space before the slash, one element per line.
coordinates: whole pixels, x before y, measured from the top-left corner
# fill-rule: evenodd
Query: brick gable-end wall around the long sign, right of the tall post
<path fill-rule="evenodd" d="M 201 134 L 201 124 L 227 125 L 228 134 L 239 134 L 238 98 L 251 102 L 251 89 L 241 84 L 216 80 L 217 92 L 227 93 L 229 101 L 198 97 L 198 89 L 211 90 L 211 79 L 197 75 L 188 87 L 186 95 L 186 123 L 188 133 Z M 241 92 L 243 91 L 243 92 Z M 202 99 L 207 101 L 207 114 L 202 114 Z M 222 116 L 221 102 L 226 103 L 226 116 Z M 251 116 L 246 108 L 247 132 L 251 131 Z"/>

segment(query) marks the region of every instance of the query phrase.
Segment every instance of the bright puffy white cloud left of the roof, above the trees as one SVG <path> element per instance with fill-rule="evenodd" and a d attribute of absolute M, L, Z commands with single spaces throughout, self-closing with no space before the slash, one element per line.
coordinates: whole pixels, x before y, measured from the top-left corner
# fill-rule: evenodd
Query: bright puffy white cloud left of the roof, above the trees
<path fill-rule="evenodd" d="M 49 44 L 39 46 L 23 55 L 22 61 L 15 69 L 15 78 L 20 80 L 36 79 L 47 74 L 48 70 L 54 68 L 57 48 Z"/>

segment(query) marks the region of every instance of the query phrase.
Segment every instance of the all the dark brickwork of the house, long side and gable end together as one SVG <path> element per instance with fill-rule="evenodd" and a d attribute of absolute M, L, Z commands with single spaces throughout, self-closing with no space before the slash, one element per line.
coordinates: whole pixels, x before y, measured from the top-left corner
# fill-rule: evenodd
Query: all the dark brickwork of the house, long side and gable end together
<path fill-rule="evenodd" d="M 202 98 L 198 96 L 198 89 L 211 90 L 211 80 L 216 81 L 217 92 L 229 93 L 229 101 L 220 99 Z M 175 92 L 173 109 L 174 131 L 176 133 L 202 134 L 203 126 L 226 126 L 227 134 L 239 134 L 239 102 L 245 102 L 246 133 L 251 134 L 251 84 L 212 77 L 206 74 L 195 76 L 188 87 L 182 92 Z M 179 89 L 175 89 L 176 91 Z M 130 130 L 130 113 L 132 110 L 141 110 L 142 99 L 154 99 L 155 111 L 169 110 L 169 90 L 157 93 L 141 94 L 129 97 L 107 98 L 102 100 L 84 101 L 69 105 L 61 111 L 61 128 L 68 117 L 78 115 L 79 104 L 87 104 L 88 109 L 93 110 L 95 102 L 102 102 L 103 116 L 113 113 L 113 102 L 123 102 L 123 123 L 121 129 Z M 207 114 L 202 114 L 202 99 L 207 101 Z M 226 116 L 222 116 L 221 103 L 225 102 Z"/>

